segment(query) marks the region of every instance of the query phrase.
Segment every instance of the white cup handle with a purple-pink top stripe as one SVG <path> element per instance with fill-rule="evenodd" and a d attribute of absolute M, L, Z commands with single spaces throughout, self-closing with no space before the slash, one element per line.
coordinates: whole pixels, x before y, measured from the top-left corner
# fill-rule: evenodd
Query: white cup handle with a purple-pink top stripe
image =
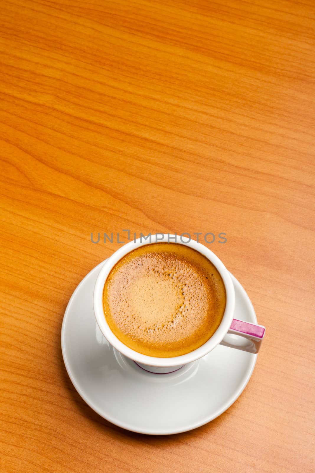
<path fill-rule="evenodd" d="M 223 338 L 221 345 L 238 350 L 258 353 L 264 339 L 265 328 L 263 325 L 250 324 L 243 320 L 233 319 L 228 333 Z M 239 335 L 235 337 L 235 335 Z"/>

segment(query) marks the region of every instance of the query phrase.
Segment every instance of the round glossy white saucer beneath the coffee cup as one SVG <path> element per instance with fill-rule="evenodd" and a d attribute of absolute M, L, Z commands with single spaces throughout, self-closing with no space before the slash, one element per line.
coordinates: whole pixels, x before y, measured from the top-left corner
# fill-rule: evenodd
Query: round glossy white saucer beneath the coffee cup
<path fill-rule="evenodd" d="M 92 299 L 101 267 L 102 263 L 77 286 L 61 330 L 68 375 L 85 402 L 113 424 L 151 435 L 195 429 L 228 409 L 247 385 L 257 355 L 219 345 L 174 373 L 144 371 L 114 350 L 96 324 Z M 234 317 L 256 324 L 252 303 L 231 277 Z"/>

